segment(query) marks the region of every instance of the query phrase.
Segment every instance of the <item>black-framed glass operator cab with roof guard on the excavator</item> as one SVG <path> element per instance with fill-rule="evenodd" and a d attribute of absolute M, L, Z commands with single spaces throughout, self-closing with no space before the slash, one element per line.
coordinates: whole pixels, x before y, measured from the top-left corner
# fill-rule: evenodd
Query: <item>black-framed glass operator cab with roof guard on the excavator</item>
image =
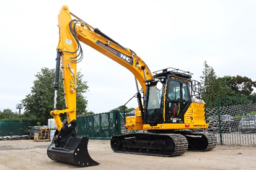
<path fill-rule="evenodd" d="M 192 103 L 193 89 L 200 97 L 200 83 L 194 83 L 198 86 L 195 88 L 192 73 L 173 68 L 154 72 L 154 78 L 156 80 L 146 81 L 144 124 L 183 123 L 184 114 Z"/>

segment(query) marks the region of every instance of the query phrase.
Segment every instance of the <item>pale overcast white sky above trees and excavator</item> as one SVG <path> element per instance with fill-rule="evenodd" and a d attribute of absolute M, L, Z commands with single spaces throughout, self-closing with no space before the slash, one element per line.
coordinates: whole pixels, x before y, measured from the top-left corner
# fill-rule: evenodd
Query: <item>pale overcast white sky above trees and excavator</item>
<path fill-rule="evenodd" d="M 0 111 L 19 112 L 16 104 L 31 92 L 35 75 L 43 67 L 55 69 L 58 12 L 64 5 L 135 51 L 151 72 L 174 67 L 200 81 L 206 61 L 218 77 L 256 80 L 256 1 L 9 0 L 0 2 Z M 82 49 L 77 70 L 89 86 L 88 111 L 108 112 L 135 95 L 129 70 L 87 45 Z M 126 106 L 137 108 L 136 98 Z"/>

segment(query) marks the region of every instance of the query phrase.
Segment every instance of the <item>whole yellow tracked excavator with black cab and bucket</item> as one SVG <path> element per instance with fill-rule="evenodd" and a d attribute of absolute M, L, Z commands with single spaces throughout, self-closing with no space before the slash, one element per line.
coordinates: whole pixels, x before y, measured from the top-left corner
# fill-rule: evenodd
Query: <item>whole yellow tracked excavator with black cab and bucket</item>
<path fill-rule="evenodd" d="M 144 133 L 114 135 L 110 141 L 113 151 L 177 156 L 187 150 L 208 151 L 216 147 L 216 137 L 203 130 L 208 128 L 205 102 L 200 99 L 200 83 L 192 80 L 192 73 L 171 67 L 152 73 L 134 51 L 79 19 L 69 11 L 68 6 L 60 9 L 58 27 L 60 39 L 56 57 L 55 98 L 50 113 L 58 129 L 47 150 L 49 158 L 81 167 L 99 164 L 89 156 L 88 138 L 76 137 L 76 66 L 83 57 L 80 41 L 135 75 L 138 108 L 135 116 L 125 118 L 125 128 L 144 130 Z M 56 108 L 60 68 L 66 99 L 66 109 L 63 110 Z M 64 113 L 68 119 L 61 122 L 60 114 Z"/>

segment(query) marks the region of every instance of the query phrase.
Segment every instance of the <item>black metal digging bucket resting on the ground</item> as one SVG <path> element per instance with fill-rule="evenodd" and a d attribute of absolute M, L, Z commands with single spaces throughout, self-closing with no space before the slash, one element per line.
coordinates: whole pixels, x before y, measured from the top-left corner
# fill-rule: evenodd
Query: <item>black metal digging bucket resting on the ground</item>
<path fill-rule="evenodd" d="M 64 130 L 66 129 L 64 128 Z M 62 131 L 63 130 L 60 130 L 60 133 L 58 133 L 56 130 L 55 132 L 55 134 L 59 135 L 48 147 L 47 155 L 49 158 L 54 161 L 74 164 L 80 167 L 95 166 L 99 164 L 90 158 L 87 150 L 89 140 L 87 137 L 75 137 L 75 132 L 73 130 L 68 132 L 64 137 L 61 137 L 61 134 L 63 134 L 61 133 Z"/>

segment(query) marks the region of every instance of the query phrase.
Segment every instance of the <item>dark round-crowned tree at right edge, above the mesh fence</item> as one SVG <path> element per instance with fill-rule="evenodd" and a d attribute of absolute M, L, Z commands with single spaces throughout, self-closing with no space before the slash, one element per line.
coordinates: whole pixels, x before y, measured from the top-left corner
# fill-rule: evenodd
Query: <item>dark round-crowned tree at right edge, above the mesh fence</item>
<path fill-rule="evenodd" d="M 248 77 L 242 77 L 240 75 L 232 77 L 229 80 L 229 83 L 234 93 L 239 95 L 251 95 L 254 91 L 254 88 L 252 87 L 256 87 L 256 82 Z"/>

